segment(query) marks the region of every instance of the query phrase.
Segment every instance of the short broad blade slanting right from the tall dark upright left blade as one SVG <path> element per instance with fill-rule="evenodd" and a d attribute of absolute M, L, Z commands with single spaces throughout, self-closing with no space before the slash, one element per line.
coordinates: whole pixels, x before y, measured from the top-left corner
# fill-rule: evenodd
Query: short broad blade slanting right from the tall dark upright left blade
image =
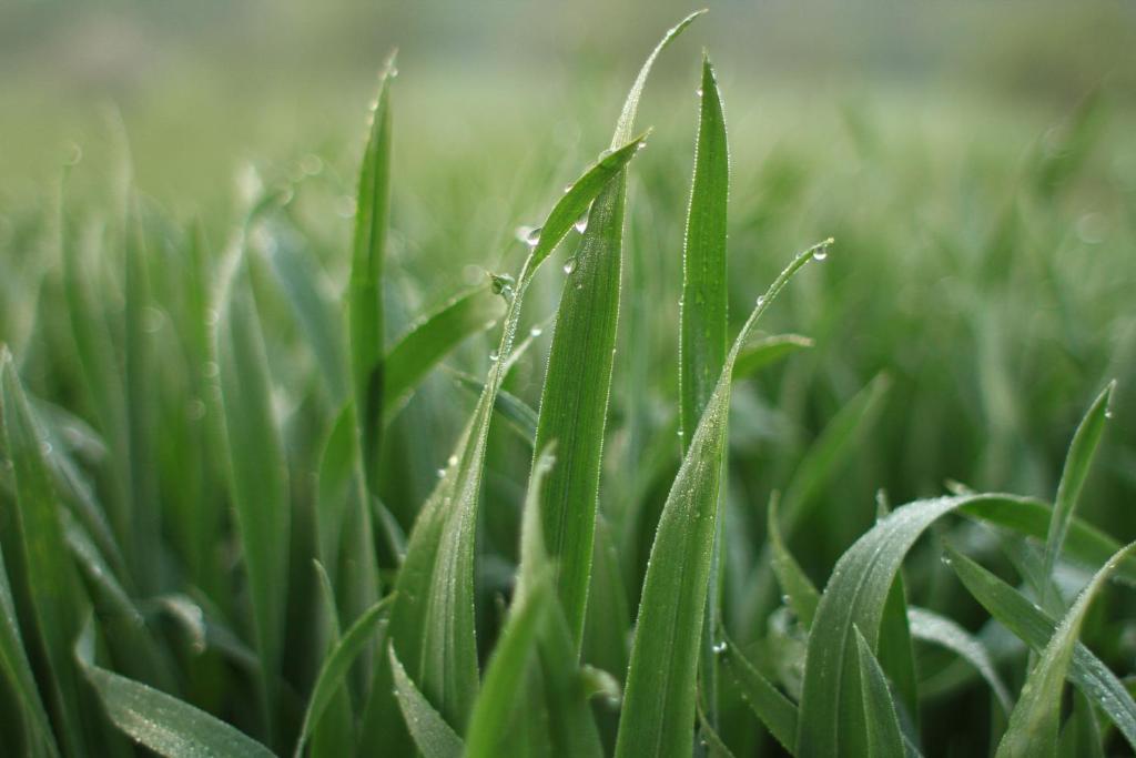
<path fill-rule="evenodd" d="M 383 414 L 390 420 L 427 373 L 466 338 L 492 327 L 504 301 L 488 285 L 454 295 L 416 322 L 386 353 Z"/>

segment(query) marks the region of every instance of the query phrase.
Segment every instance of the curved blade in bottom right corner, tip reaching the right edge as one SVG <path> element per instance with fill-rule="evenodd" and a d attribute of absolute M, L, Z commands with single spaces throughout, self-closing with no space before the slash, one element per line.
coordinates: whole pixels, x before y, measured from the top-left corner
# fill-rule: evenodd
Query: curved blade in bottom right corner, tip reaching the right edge
<path fill-rule="evenodd" d="M 1018 756 L 1056 756 L 1058 726 L 1061 718 L 1061 693 L 1072 661 L 1080 627 L 1089 603 L 1100 592 L 1120 559 L 1136 552 L 1136 542 L 1121 549 L 1081 590 L 1076 602 L 1061 619 L 1052 639 L 1037 659 L 1021 688 L 1018 703 L 1010 714 L 1010 725 L 997 747 L 999 758 Z"/>

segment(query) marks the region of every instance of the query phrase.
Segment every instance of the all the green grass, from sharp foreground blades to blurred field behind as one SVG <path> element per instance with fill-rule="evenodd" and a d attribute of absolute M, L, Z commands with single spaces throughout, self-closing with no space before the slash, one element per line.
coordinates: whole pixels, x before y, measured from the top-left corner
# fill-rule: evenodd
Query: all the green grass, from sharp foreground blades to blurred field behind
<path fill-rule="evenodd" d="M 354 189 L 250 172 L 220 241 L 133 186 L 6 215 L 0 743 L 1136 748 L 1106 95 L 1025 156 L 853 105 L 755 167 L 707 56 L 693 133 L 635 125 L 698 16 L 504 231 L 477 164 L 399 176 L 393 57 Z"/>

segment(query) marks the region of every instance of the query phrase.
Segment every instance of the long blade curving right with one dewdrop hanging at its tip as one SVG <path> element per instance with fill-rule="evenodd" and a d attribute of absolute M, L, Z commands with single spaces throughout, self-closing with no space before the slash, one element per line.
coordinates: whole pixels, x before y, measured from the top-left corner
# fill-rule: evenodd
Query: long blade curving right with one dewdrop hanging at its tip
<path fill-rule="evenodd" d="M 734 361 L 788 280 L 829 242 L 794 258 L 758 300 L 726 357 L 718 384 L 675 476 L 643 583 L 619 719 L 618 757 L 678 756 L 690 750 Z"/>

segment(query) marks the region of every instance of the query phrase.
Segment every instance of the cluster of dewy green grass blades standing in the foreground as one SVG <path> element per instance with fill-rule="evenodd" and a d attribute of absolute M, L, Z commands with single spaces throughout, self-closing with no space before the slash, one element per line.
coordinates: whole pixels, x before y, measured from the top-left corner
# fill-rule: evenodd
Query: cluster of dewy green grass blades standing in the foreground
<path fill-rule="evenodd" d="M 279 192 L 250 194 L 217 272 L 200 233 L 170 228 L 134 199 L 103 230 L 123 242 L 119 257 L 85 252 L 62 214 L 66 316 L 45 317 L 66 331 L 82 376 L 83 397 L 59 403 L 74 401 L 89 420 L 33 397 L 3 351 L 6 753 L 120 756 L 131 742 L 223 757 L 934 753 L 921 739 L 929 694 L 917 642 L 958 656 L 953 686 L 976 698 L 988 688 L 999 756 L 1136 748 L 1129 681 L 1079 641 L 1109 580 L 1136 582 L 1134 548 L 1075 515 L 1111 385 L 1074 436 L 1052 505 L 962 485 L 894 509 L 882 498 L 877 523 L 821 592 L 788 538 L 871 423 L 887 390 L 878 377 L 769 503 L 767 544 L 743 567 L 751 589 L 725 592 L 732 389 L 809 347 L 753 335 L 832 240 L 793 258 L 730 341 L 729 151 L 708 58 L 675 366 L 682 463 L 657 516 L 599 508 L 627 175 L 646 140 L 636 111 L 655 58 L 698 15 L 648 58 L 610 148 L 528 235 L 519 273 L 454 293 L 390 347 L 393 58 L 359 173 L 345 314 L 296 244 Z M 506 389 L 540 332 L 518 340 L 523 306 L 574 235 L 534 409 Z M 161 320 L 173 338 L 154 336 Z M 300 335 L 303 357 L 273 355 L 268 327 L 278 324 Z M 458 376 L 478 398 L 457 443 L 419 442 L 445 463 L 407 533 L 384 502 L 398 475 L 379 465 L 386 432 L 424 378 L 491 326 L 500 340 L 487 376 Z M 278 390 L 290 383 L 314 389 L 284 408 Z M 532 464 L 516 565 L 493 594 L 483 586 L 502 559 L 478 543 L 483 511 L 496 507 L 483 503 L 495 420 Z M 942 530 L 951 519 L 969 531 Z M 625 565 L 628 535 L 644 523 L 653 538 L 638 582 Z M 903 564 L 917 543 L 943 555 L 939 570 L 988 614 L 982 632 L 909 605 Z M 976 559 L 999 550 L 1020 586 Z M 1084 581 L 1070 591 L 1070 577 Z M 745 607 L 730 608 L 730 597 Z M 753 636 L 752 618 L 768 620 L 760 640 L 736 634 Z"/>

